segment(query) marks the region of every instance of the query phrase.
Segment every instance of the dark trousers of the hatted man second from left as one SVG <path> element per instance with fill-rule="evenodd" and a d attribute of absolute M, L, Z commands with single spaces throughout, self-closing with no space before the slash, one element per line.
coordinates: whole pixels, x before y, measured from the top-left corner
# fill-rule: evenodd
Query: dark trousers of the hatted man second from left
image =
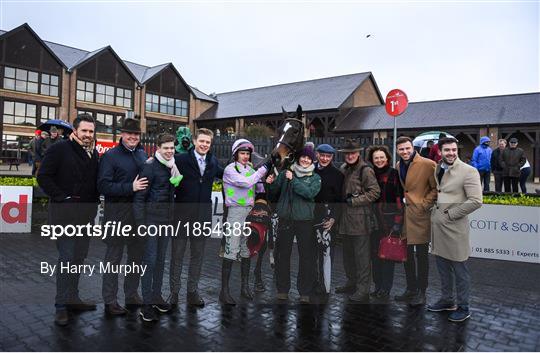
<path fill-rule="evenodd" d="M 129 239 L 126 242 L 111 240 L 107 242 L 107 251 L 105 252 L 105 265 L 110 263 L 113 267 L 120 264 L 124 255 L 124 246 L 127 247 L 126 264 L 140 265 L 145 250 L 145 241 L 143 237 Z M 139 273 L 130 273 L 124 279 L 124 296 L 133 298 L 137 295 L 139 288 Z M 116 302 L 118 294 L 118 273 L 104 273 L 102 287 L 103 302 L 113 304 Z"/>

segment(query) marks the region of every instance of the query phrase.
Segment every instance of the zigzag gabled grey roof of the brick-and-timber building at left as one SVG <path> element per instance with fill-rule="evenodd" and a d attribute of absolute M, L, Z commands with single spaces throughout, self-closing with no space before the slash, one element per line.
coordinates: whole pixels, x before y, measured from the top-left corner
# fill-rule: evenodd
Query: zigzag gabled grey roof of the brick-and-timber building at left
<path fill-rule="evenodd" d="M 19 26 L 19 27 L 17 27 L 17 28 L 15 28 L 15 29 L 18 29 L 20 27 L 25 27 L 32 34 L 34 34 L 37 37 L 37 39 L 40 40 L 46 46 L 46 48 L 51 52 L 51 54 L 53 54 L 53 56 L 55 58 L 57 58 L 58 61 L 61 64 L 63 64 L 70 71 L 73 70 L 74 68 L 76 68 L 77 66 L 83 64 L 84 62 L 90 60 L 92 57 L 94 57 L 97 54 L 101 53 L 103 50 L 111 50 L 113 55 L 118 58 L 118 60 L 122 63 L 122 65 L 124 65 L 124 67 L 129 72 L 129 74 L 132 75 L 132 77 L 134 77 L 141 85 L 144 84 L 145 82 L 147 82 L 148 80 L 150 80 L 157 73 L 159 73 L 160 71 L 162 71 L 163 69 L 165 69 L 167 66 L 170 65 L 173 68 L 173 70 L 178 74 L 178 76 L 180 77 L 182 82 L 184 82 L 186 84 L 186 86 L 188 86 L 188 89 L 192 90 L 192 93 L 193 93 L 193 95 L 195 97 L 197 97 L 198 99 L 203 99 L 203 100 L 208 100 L 208 101 L 215 102 L 215 99 L 207 96 L 203 92 L 201 92 L 199 90 L 197 90 L 197 92 L 195 92 L 193 90 L 193 87 L 191 87 L 190 85 L 188 85 L 184 81 L 184 79 L 182 78 L 182 76 L 176 70 L 176 68 L 174 67 L 174 65 L 172 63 L 166 63 L 166 64 L 161 64 L 161 65 L 149 67 L 149 66 L 145 66 L 145 65 L 141 65 L 141 64 L 137 64 L 137 63 L 133 63 L 133 62 L 130 62 L 130 61 L 120 59 L 120 57 L 118 57 L 118 55 L 116 54 L 116 52 L 114 51 L 114 49 L 112 49 L 112 47 L 110 45 L 106 46 L 106 47 L 103 47 L 103 48 L 100 48 L 100 49 L 97 49 L 97 50 L 94 50 L 92 52 L 89 52 L 87 50 L 73 48 L 73 47 L 70 47 L 70 46 L 67 46 L 67 45 L 63 45 L 63 44 L 43 41 L 32 30 L 32 28 L 26 23 Z M 0 36 L 4 35 L 5 33 L 8 33 L 8 32 L 11 32 L 11 31 L 0 30 Z M 199 98 L 199 97 L 202 97 L 202 98 Z"/>

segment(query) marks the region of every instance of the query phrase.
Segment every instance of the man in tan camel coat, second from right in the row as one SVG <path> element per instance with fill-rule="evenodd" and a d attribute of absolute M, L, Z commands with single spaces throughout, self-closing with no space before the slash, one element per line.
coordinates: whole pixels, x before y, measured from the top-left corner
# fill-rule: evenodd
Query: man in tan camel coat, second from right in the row
<path fill-rule="evenodd" d="M 396 166 L 405 195 L 405 221 L 402 235 L 407 238 L 405 262 L 406 291 L 395 297 L 411 306 L 426 303 L 428 285 L 428 247 L 431 237 L 430 212 L 437 198 L 435 162 L 414 151 L 412 140 L 402 136 L 396 141 L 400 160 Z"/>

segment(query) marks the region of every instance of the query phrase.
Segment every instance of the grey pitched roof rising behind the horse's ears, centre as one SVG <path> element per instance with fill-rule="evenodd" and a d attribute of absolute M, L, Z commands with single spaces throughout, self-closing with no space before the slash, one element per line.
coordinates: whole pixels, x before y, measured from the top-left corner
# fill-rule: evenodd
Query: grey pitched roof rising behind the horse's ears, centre
<path fill-rule="evenodd" d="M 293 111 L 298 104 L 304 111 L 337 109 L 368 78 L 371 72 L 218 93 L 215 112 L 199 119 L 280 114 L 281 107 Z"/>

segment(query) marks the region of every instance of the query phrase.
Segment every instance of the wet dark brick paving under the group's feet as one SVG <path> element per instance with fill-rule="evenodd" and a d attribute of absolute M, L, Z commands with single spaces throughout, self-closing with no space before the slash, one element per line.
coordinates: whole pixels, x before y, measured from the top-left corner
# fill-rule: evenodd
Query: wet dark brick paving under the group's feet
<path fill-rule="evenodd" d="M 255 302 L 222 308 L 219 241 L 207 242 L 200 288 L 207 305 L 180 306 L 155 325 L 136 314 L 108 318 L 103 314 L 101 276 L 83 277 L 81 294 L 100 302 L 94 312 L 74 316 L 69 327 L 54 325 L 54 277 L 39 273 L 40 261 L 56 261 L 54 241 L 37 235 L 0 235 L 0 350 L 2 351 L 539 351 L 540 267 L 535 264 L 471 259 L 472 317 L 454 324 L 445 314 L 387 305 L 348 304 L 332 294 L 326 305 L 274 302 L 272 274 L 265 262 L 269 290 Z M 92 241 L 88 263 L 97 263 L 104 244 Z M 337 249 L 333 285 L 344 281 Z M 297 253 L 293 253 L 296 271 Z M 239 266 L 231 278 L 239 295 Z M 168 266 L 166 267 L 168 268 Z M 296 283 L 293 274 L 293 288 Z M 167 282 L 168 271 L 165 274 Z M 185 274 L 183 284 L 186 283 Z M 165 285 L 164 293 L 168 292 Z M 121 287 L 120 287 L 121 288 Z M 393 294 L 404 288 L 397 267 Z M 431 266 L 428 300 L 437 298 L 439 283 Z M 184 299 L 185 287 L 182 291 Z M 166 295 L 166 294 L 165 294 Z M 120 298 L 123 295 L 120 293 Z"/>

